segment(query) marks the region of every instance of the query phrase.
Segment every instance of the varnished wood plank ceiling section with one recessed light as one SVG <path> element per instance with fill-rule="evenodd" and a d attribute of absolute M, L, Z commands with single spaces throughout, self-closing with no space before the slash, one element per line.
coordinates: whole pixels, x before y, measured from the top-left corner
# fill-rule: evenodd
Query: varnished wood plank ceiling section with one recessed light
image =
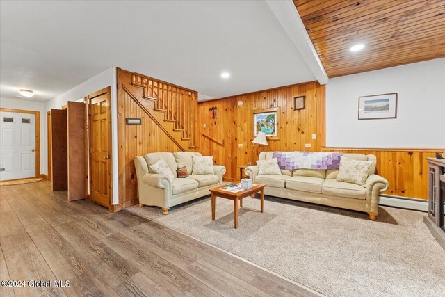
<path fill-rule="evenodd" d="M 293 3 L 329 77 L 445 57 L 445 0 Z"/>

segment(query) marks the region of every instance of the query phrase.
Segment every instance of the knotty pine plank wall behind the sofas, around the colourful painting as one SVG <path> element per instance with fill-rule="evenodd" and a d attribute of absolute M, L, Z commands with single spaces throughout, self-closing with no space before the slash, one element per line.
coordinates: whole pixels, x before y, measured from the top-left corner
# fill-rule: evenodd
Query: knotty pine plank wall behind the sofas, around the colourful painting
<path fill-rule="evenodd" d="M 293 110 L 293 97 L 306 96 L 306 108 Z M 243 101 L 238 106 L 238 101 Z M 212 118 L 209 108 L 218 108 Z M 280 107 L 277 141 L 268 141 L 268 146 L 252 144 L 254 138 L 252 111 Z M 325 145 L 325 86 L 317 82 L 300 83 L 255 93 L 236 95 L 199 104 L 199 143 L 197 150 L 214 156 L 214 163 L 226 166 L 225 179 L 239 179 L 237 166 L 255 162 L 261 151 L 307 150 L 319 152 Z M 204 128 L 204 125 L 206 127 Z M 212 141 L 206 134 L 216 141 Z M 312 139 L 316 134 L 316 140 Z M 312 147 L 306 148 L 305 143 Z M 239 147 L 238 145 L 243 145 Z"/>

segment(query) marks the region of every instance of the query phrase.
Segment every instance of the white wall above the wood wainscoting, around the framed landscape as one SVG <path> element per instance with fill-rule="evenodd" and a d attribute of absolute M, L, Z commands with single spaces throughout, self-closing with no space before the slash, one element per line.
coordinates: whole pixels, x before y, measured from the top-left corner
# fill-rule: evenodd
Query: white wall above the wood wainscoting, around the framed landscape
<path fill-rule="evenodd" d="M 398 93 L 397 118 L 358 120 L 358 97 Z M 327 147 L 445 147 L 445 58 L 330 79 Z"/>

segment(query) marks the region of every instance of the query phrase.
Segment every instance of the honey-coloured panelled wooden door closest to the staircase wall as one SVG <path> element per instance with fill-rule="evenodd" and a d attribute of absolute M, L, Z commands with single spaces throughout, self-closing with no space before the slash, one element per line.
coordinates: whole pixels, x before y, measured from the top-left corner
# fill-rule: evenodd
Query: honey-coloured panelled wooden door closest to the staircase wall
<path fill-rule="evenodd" d="M 93 202 L 111 205 L 110 88 L 88 96 L 90 101 L 90 195 Z"/>

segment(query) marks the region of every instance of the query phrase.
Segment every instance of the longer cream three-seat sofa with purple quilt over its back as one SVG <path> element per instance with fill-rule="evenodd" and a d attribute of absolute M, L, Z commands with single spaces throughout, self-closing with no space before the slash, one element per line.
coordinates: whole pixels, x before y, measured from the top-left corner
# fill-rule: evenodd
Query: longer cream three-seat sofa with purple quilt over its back
<path fill-rule="evenodd" d="M 260 160 L 270 159 L 273 152 L 261 152 Z M 337 182 L 339 170 L 297 169 L 281 170 L 282 175 L 258 175 L 258 166 L 245 168 L 252 182 L 266 184 L 264 193 L 280 198 L 364 211 L 371 220 L 378 215 L 379 193 L 386 191 L 389 183 L 375 175 L 376 159 L 373 154 L 344 154 L 350 159 L 372 161 L 365 186 Z"/>

